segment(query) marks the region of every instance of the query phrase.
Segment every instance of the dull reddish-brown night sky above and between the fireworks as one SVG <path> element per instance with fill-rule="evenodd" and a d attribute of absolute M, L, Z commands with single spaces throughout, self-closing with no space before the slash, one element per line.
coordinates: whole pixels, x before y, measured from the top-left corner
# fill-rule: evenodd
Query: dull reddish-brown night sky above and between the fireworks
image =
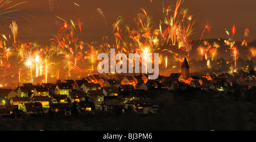
<path fill-rule="evenodd" d="M 23 1 L 17 0 L 17 2 Z M 51 0 L 50 2 L 48 0 L 27 0 L 26 3 L 15 7 L 20 10 L 19 14 L 27 15 L 26 19 L 21 18 L 18 21 L 19 40 L 36 41 L 40 45 L 50 45 L 50 39 L 63 27 L 64 22 L 57 18 L 59 16 L 68 22 L 81 19 L 83 41 L 102 42 L 102 37 L 105 39 L 106 37 L 113 37 L 111 34 L 112 25 L 118 16 L 125 19 L 121 25 L 122 29 L 125 29 L 125 25 L 136 28 L 133 20 L 137 14 L 142 13 L 140 8 L 144 8 L 148 15 L 152 16 L 156 28 L 159 28 L 159 21 L 163 21 L 163 6 L 170 5 L 174 9 L 176 5 L 176 0 L 152 0 L 152 3 L 150 0 Z M 193 20 L 195 20 L 193 25 L 195 33 L 190 37 L 190 40 L 199 40 L 203 33 L 203 24 L 208 22 L 212 27 L 211 32 L 205 31 L 202 40 L 229 38 L 225 29 L 232 33 L 231 29 L 235 24 L 237 31 L 234 39 L 242 41 L 244 31 L 248 28 L 250 33 L 246 40 L 251 42 L 256 40 L 255 5 L 256 1 L 251 0 L 187 0 L 182 3 L 180 8 L 188 8 L 188 15 L 192 15 Z M 104 12 L 106 23 L 104 18 L 96 12 L 97 8 Z M 10 32 L 9 27 L 6 28 L 7 31 Z M 195 50 L 194 53 L 193 50 Z M 193 50 L 192 54 L 198 56 L 195 53 L 196 49 L 193 48 Z M 225 52 L 226 49 L 220 49 L 220 56 L 227 57 Z M 241 51 L 241 58 L 246 59 L 246 54 L 247 50 L 244 53 Z"/>

